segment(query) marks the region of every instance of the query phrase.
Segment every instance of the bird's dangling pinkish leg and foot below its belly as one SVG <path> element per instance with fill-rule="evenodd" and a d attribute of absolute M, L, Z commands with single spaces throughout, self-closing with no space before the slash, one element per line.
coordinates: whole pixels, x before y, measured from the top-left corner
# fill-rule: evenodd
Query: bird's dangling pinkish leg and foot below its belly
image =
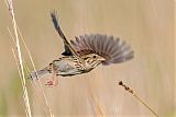
<path fill-rule="evenodd" d="M 56 77 L 57 77 L 57 73 L 54 70 L 52 79 L 50 79 L 50 81 L 47 81 L 45 85 L 56 86 L 58 84 L 58 79 Z"/>

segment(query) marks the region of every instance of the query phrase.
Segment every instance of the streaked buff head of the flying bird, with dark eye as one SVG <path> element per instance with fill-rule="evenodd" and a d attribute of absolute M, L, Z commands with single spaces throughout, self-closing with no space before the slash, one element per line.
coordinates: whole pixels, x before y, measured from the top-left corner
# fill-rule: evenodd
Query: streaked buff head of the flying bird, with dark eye
<path fill-rule="evenodd" d="M 97 54 L 89 54 L 84 56 L 85 63 L 88 68 L 96 68 L 106 59 Z"/>

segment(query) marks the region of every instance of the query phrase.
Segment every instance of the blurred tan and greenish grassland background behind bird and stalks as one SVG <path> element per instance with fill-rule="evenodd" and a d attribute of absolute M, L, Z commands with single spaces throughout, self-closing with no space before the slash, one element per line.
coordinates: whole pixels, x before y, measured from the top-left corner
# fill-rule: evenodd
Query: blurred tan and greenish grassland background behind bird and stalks
<path fill-rule="evenodd" d="M 121 37 L 131 45 L 135 58 L 121 65 L 98 67 L 94 71 L 59 79 L 44 92 L 57 116 L 97 116 L 90 91 L 107 117 L 153 116 L 118 85 L 122 80 L 161 117 L 174 117 L 174 1 L 172 0 L 14 0 L 14 12 L 37 69 L 61 57 L 63 42 L 54 30 L 50 12 L 57 10 L 65 35 L 100 33 Z M 11 17 L 0 0 L 0 116 L 25 116 L 21 81 L 12 55 L 14 44 L 7 27 Z M 30 59 L 22 46 L 22 56 Z M 41 98 L 29 84 L 33 116 L 46 116 Z"/>

